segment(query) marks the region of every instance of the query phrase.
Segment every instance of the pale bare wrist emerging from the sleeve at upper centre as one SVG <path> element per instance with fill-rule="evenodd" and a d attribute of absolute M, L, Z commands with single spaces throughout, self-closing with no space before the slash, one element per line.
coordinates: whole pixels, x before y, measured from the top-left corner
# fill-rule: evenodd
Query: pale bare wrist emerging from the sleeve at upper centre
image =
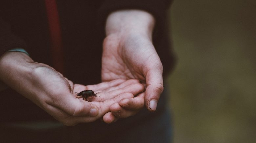
<path fill-rule="evenodd" d="M 154 17 L 142 10 L 120 10 L 111 13 L 106 21 L 106 35 L 143 35 L 152 39 Z"/>

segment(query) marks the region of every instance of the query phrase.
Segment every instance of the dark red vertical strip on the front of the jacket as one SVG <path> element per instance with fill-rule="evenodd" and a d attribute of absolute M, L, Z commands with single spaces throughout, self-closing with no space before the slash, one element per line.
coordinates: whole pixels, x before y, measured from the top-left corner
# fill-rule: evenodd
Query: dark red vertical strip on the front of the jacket
<path fill-rule="evenodd" d="M 63 55 L 63 45 L 61 38 L 60 22 L 58 16 L 57 3 L 55 0 L 45 0 L 48 25 L 51 38 L 51 49 L 52 49 L 52 61 L 53 68 L 58 72 L 63 73 L 64 71 L 64 55 Z"/>

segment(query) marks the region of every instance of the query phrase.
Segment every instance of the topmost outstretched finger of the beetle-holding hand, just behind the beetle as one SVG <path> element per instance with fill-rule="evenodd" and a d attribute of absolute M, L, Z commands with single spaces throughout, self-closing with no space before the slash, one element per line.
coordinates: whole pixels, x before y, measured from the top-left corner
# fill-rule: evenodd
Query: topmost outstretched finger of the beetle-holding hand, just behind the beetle
<path fill-rule="evenodd" d="M 114 87 L 114 86 L 118 86 L 119 84 L 121 84 L 125 81 L 126 81 L 125 79 L 117 79 L 117 80 L 112 80 L 109 82 L 102 82 L 102 83 L 95 84 L 95 85 L 88 85 L 88 86 L 86 86 L 86 88 L 90 89 L 90 90 L 97 90 L 99 92 L 99 91 L 103 91 L 103 90 L 106 90 L 106 89 Z"/>

